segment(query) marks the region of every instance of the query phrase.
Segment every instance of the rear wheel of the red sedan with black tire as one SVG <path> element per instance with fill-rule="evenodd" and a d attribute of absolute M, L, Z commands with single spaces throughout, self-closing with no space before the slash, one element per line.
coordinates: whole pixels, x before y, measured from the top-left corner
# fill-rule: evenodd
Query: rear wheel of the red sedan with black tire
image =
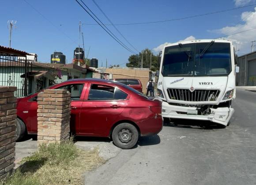
<path fill-rule="evenodd" d="M 139 139 L 139 131 L 130 123 L 118 124 L 112 132 L 113 143 L 122 149 L 130 149 Z"/>

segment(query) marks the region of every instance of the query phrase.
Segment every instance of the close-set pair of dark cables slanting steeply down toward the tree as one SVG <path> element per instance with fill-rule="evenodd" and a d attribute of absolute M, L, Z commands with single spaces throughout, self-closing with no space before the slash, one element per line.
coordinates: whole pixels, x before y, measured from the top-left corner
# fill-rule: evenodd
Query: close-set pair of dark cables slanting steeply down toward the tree
<path fill-rule="evenodd" d="M 130 48 L 128 48 L 122 41 L 120 41 L 120 40 L 104 25 L 103 22 L 100 21 L 100 19 L 90 10 L 90 8 L 87 7 L 87 5 L 83 2 L 83 0 L 80 0 L 80 1 L 88 8 L 88 10 L 95 16 L 95 18 L 97 18 L 98 21 L 101 22 L 101 24 L 83 7 L 82 4 L 80 4 L 80 3 L 78 2 L 78 0 L 75 0 L 75 1 L 84 9 L 84 11 L 87 12 L 87 14 L 90 15 L 91 18 L 94 19 L 94 21 L 96 21 L 96 22 L 98 23 L 99 26 L 101 26 L 101 27 L 103 28 L 103 30 L 105 30 L 105 32 L 107 32 L 107 33 L 108 33 L 115 41 L 117 41 L 123 48 L 125 48 L 125 49 L 128 50 L 129 52 L 135 53 L 135 52 L 133 52 Z M 103 26 L 104 26 L 105 28 L 104 28 Z M 108 31 L 107 31 L 107 30 L 108 30 Z M 110 34 L 109 32 L 110 32 L 111 34 Z M 135 54 L 136 54 L 136 53 L 135 53 Z"/>

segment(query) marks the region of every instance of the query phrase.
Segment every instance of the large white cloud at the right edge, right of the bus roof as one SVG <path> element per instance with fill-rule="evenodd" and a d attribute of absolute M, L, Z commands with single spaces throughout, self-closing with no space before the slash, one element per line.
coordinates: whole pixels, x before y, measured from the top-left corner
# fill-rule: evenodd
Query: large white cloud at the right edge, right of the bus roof
<path fill-rule="evenodd" d="M 242 32 L 256 28 L 256 8 L 255 11 L 246 11 L 241 14 L 242 24 L 235 26 L 226 26 L 219 30 L 215 30 L 223 35 L 230 35 L 233 33 Z M 235 48 L 237 47 L 240 51 L 238 54 L 251 51 L 251 41 L 256 40 L 256 30 L 250 30 L 243 33 L 233 34 L 225 37 L 225 39 L 232 40 Z"/>

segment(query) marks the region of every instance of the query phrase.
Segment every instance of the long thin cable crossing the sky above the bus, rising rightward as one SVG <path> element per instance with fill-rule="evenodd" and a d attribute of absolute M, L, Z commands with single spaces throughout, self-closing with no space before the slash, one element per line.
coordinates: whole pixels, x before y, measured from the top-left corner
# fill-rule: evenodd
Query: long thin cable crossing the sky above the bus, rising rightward
<path fill-rule="evenodd" d="M 205 14 L 192 15 L 192 16 L 182 17 L 182 18 L 167 19 L 167 20 L 162 20 L 162 21 L 120 23 L 120 24 L 114 24 L 114 25 L 115 26 L 124 26 L 124 25 L 153 24 L 153 23 L 161 23 L 161 22 L 180 21 L 180 20 L 184 20 L 184 19 L 188 19 L 188 18 L 196 18 L 196 17 L 205 16 L 205 15 L 218 14 L 218 13 L 222 13 L 222 12 L 226 12 L 226 11 L 238 10 L 238 9 L 245 8 L 245 7 L 252 7 L 252 6 L 255 6 L 255 5 L 256 5 L 256 3 L 255 4 L 246 5 L 246 6 L 242 6 L 242 7 L 230 8 L 230 9 L 221 10 L 221 11 L 213 11 L 213 12 L 209 12 L 209 13 L 205 13 Z M 90 24 L 90 23 L 84 23 L 84 24 L 86 24 L 86 25 L 97 25 L 97 24 Z M 105 24 L 105 25 L 106 26 L 113 26 L 113 24 Z"/>

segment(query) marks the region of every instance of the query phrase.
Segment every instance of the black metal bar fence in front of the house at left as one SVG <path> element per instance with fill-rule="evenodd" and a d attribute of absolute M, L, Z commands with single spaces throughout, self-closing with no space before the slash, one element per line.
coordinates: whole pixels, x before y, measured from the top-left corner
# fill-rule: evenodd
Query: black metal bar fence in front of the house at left
<path fill-rule="evenodd" d="M 16 86 L 16 97 L 26 96 L 68 80 L 68 72 L 27 57 L 0 52 L 0 85 Z"/>

